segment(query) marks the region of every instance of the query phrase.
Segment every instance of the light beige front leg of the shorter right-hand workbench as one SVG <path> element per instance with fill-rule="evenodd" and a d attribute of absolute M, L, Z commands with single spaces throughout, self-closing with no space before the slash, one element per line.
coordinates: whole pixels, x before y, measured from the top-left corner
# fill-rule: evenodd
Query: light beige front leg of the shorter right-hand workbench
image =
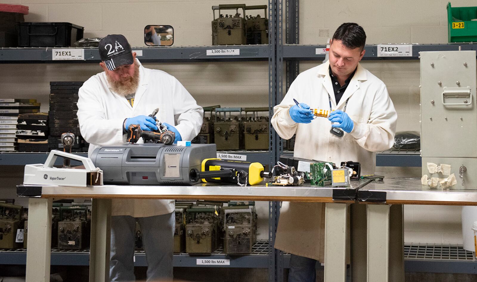
<path fill-rule="evenodd" d="M 368 204 L 368 282 L 388 282 L 389 205 Z"/>

